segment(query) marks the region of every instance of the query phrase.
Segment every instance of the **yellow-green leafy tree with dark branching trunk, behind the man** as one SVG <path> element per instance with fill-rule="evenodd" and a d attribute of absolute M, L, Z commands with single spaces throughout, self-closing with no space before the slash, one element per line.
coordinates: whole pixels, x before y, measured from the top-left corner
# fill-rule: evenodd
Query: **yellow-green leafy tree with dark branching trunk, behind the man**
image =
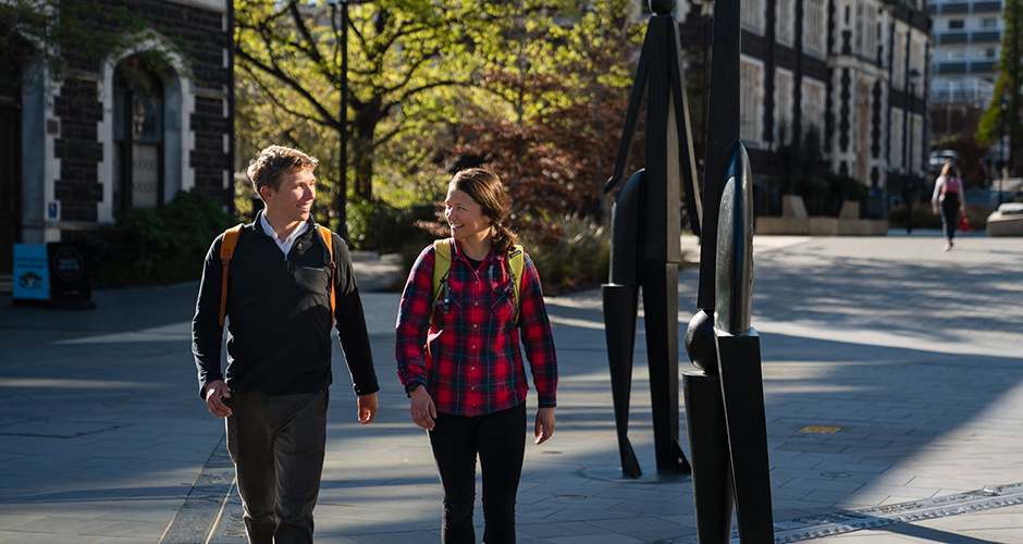
<path fill-rule="evenodd" d="M 353 194 L 358 201 L 372 200 L 380 154 L 403 156 L 389 146 L 402 137 L 429 138 L 429 125 L 456 116 L 437 89 L 471 83 L 474 57 L 467 54 L 465 36 L 467 21 L 478 20 L 473 8 L 460 0 L 348 2 L 349 71 L 343 74 L 342 17 L 328 1 L 235 0 L 243 98 L 272 107 L 252 108 L 249 122 L 274 120 L 294 143 L 333 144 L 347 131 Z M 349 89 L 347 112 L 341 112 L 343 85 Z M 334 137 L 326 139 L 326 132 Z M 322 156 L 324 147 L 316 146 L 316 152 Z M 335 217 L 344 213 L 346 197 L 332 195 Z"/>

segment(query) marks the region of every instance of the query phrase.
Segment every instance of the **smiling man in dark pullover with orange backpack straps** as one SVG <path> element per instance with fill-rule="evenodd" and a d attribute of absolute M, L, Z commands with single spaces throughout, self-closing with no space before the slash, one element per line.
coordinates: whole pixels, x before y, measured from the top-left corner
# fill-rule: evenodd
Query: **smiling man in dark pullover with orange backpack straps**
<path fill-rule="evenodd" d="M 221 259 L 224 235 L 213 242 L 192 323 L 199 396 L 210 413 L 226 418 L 251 544 L 312 542 L 335 320 L 358 419 L 366 424 L 377 413 L 380 387 L 348 248 L 310 218 L 316 165 L 280 146 L 256 156 L 248 175 L 266 207 L 241 228 L 230 261 Z M 230 320 L 226 381 L 222 308 Z"/>

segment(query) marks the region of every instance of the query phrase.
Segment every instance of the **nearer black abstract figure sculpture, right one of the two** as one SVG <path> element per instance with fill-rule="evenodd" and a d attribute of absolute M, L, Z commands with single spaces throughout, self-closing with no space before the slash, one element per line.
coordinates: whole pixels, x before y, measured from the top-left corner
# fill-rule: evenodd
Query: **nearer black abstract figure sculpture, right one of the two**
<path fill-rule="evenodd" d="M 760 337 L 751 326 L 753 203 L 739 140 L 740 0 L 714 4 L 707 111 L 701 308 L 686 351 L 701 372 L 682 376 L 700 544 L 774 542 Z"/>

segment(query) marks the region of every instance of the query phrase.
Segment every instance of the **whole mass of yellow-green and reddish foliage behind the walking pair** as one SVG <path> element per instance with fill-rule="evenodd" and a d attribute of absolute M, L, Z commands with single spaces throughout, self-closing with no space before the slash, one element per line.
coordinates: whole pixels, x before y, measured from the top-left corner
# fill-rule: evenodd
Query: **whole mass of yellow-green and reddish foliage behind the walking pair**
<path fill-rule="evenodd" d="M 347 129 L 356 201 L 430 201 L 486 163 L 525 220 L 599 213 L 642 28 L 629 3 L 353 0 L 345 78 L 341 7 L 235 0 L 239 144 L 303 147 L 336 182 Z"/>

